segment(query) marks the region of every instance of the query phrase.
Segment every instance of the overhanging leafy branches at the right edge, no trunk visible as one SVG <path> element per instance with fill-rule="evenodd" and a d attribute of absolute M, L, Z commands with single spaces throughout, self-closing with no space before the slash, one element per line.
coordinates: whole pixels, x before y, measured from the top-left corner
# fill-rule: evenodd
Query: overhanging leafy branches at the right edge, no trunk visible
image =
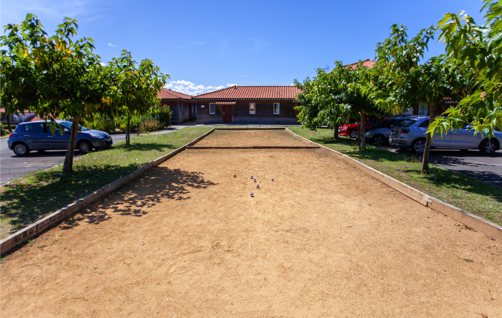
<path fill-rule="evenodd" d="M 446 45 L 446 62 L 459 68 L 475 89 L 447 109 L 446 117 L 438 117 L 429 126 L 431 133 L 453 130 L 464 122 L 470 122 L 475 133 L 488 136 L 493 129 L 502 129 L 502 3 L 483 0 L 482 10 L 486 10 L 484 25 L 463 11 L 446 14 L 437 25 L 439 41 Z"/>

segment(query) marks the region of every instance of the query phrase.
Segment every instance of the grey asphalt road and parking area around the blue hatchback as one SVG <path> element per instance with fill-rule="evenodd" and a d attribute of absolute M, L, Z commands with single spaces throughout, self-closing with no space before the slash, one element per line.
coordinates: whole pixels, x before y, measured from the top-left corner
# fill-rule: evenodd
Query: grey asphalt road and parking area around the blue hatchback
<path fill-rule="evenodd" d="M 153 134 L 169 133 L 195 124 L 195 122 L 189 122 L 171 126 L 169 129 L 160 130 Z M 131 134 L 131 137 L 134 136 L 135 134 Z M 126 134 L 112 134 L 111 137 L 113 143 L 117 143 L 126 139 Z M 34 172 L 61 165 L 64 162 L 66 150 L 48 150 L 44 153 L 32 151 L 29 155 L 20 157 L 9 149 L 7 139 L 0 139 L 0 186 Z M 80 153 L 75 151 L 74 158 L 78 156 L 80 156 Z"/>

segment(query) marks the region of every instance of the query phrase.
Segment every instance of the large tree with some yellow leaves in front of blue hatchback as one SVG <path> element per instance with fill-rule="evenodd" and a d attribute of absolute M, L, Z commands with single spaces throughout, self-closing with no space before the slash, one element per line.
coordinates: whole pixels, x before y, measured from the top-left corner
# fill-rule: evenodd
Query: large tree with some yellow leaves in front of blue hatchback
<path fill-rule="evenodd" d="M 7 25 L 2 36 L 2 103 L 9 111 L 32 111 L 51 120 L 73 118 L 63 173 L 73 169 L 73 149 L 79 120 L 115 115 L 111 105 L 110 77 L 99 56 L 92 53 L 93 40 L 76 41 L 76 20 L 65 18 L 51 37 L 37 17 L 28 14 L 21 25 Z"/>

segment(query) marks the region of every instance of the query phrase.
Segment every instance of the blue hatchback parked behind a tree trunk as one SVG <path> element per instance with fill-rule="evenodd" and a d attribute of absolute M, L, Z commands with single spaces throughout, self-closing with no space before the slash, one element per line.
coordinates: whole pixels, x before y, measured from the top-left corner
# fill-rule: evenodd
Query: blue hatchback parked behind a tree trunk
<path fill-rule="evenodd" d="M 71 121 L 56 120 L 56 131 L 53 134 L 45 121 L 23 122 L 9 135 L 9 149 L 17 155 L 27 155 L 31 150 L 43 152 L 45 150 L 68 149 L 70 141 Z M 61 133 L 63 132 L 63 133 Z M 92 130 L 80 126 L 77 133 L 75 149 L 87 153 L 93 148 L 100 149 L 111 146 L 113 140 L 104 131 Z"/>

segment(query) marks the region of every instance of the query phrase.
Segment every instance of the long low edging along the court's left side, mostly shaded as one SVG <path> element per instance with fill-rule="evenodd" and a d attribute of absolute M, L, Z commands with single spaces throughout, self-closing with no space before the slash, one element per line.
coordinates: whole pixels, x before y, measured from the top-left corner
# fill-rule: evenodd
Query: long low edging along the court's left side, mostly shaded
<path fill-rule="evenodd" d="M 26 240 L 42 233 L 44 230 L 48 229 L 50 226 L 56 224 L 57 222 L 69 217 L 70 215 L 78 212 L 80 209 L 83 207 L 91 204 L 92 202 L 100 199 L 104 195 L 112 192 L 113 190 L 119 188 L 120 186 L 128 183 L 129 181 L 135 179 L 139 175 L 149 171 L 153 167 L 156 167 L 172 156 L 174 156 L 177 153 L 180 153 L 181 151 L 185 150 L 187 146 L 191 146 L 195 144 L 196 142 L 200 141 L 202 138 L 205 136 L 211 134 L 214 131 L 214 128 L 206 132 L 205 134 L 201 135 L 200 137 L 197 137 L 196 139 L 190 141 L 184 146 L 179 147 L 176 150 L 173 150 L 169 152 L 168 154 L 165 154 L 161 156 L 160 158 L 157 158 L 153 162 L 141 167 L 138 170 L 133 171 L 127 176 L 124 176 L 118 180 L 115 180 L 114 182 L 102 187 L 99 190 L 94 191 L 93 193 L 78 199 L 77 201 L 70 203 L 66 207 L 59 209 L 58 211 L 46 216 L 45 218 L 25 227 L 22 230 L 19 230 L 18 232 L 6 237 L 2 241 L 0 241 L 0 254 L 4 255 L 5 253 L 9 252 L 12 250 L 14 247 L 17 245 L 25 242 Z"/>

